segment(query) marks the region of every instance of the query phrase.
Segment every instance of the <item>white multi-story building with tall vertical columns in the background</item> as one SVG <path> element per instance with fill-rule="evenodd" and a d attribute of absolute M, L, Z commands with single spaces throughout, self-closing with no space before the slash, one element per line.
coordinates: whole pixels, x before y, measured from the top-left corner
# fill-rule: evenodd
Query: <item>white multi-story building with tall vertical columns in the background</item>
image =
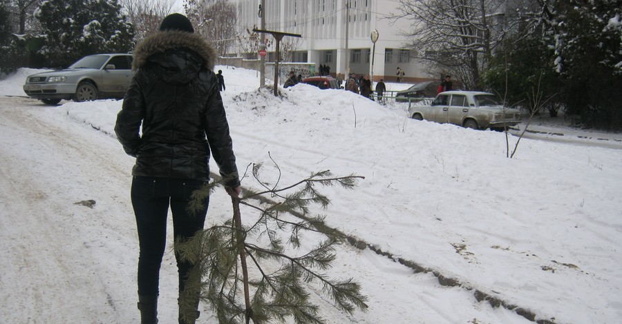
<path fill-rule="evenodd" d="M 302 35 L 299 40 L 285 37 L 282 41 L 296 44 L 290 61 L 328 65 L 333 76 L 347 75 L 349 68 L 356 74 L 373 74 L 375 81 L 395 81 L 397 68 L 404 70 L 406 81 L 430 77 L 411 59 L 409 51 L 402 48 L 405 39 L 400 32 L 411 22 L 388 19 L 390 14 L 397 13 L 394 0 L 264 1 L 265 30 Z M 238 6 L 240 30 L 260 28 L 261 0 L 232 2 Z M 373 30 L 379 33 L 375 47 L 370 37 Z M 267 51 L 268 61 L 274 60 L 274 47 L 268 47 Z"/>

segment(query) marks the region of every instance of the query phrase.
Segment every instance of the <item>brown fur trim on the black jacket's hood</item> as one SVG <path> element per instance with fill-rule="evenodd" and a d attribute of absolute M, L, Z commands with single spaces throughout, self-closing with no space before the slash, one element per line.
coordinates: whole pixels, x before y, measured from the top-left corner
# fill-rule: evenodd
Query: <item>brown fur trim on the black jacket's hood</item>
<path fill-rule="evenodd" d="M 163 53 L 176 48 L 187 48 L 198 54 L 203 60 L 203 66 L 214 69 L 216 48 L 199 34 L 191 34 L 179 30 L 163 30 L 143 39 L 133 51 L 132 70 L 147 64 L 147 59 L 153 54 Z"/>

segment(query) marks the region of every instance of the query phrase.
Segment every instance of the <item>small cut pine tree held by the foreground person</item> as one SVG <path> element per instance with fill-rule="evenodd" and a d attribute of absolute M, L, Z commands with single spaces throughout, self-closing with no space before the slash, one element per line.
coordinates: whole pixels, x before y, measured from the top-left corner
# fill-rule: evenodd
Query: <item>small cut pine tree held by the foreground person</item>
<path fill-rule="evenodd" d="M 285 318 L 293 318 L 295 323 L 323 323 L 319 307 L 310 301 L 310 287 L 328 295 L 339 310 L 366 310 L 366 296 L 361 295 L 359 283 L 330 279 L 323 273 L 334 261 L 334 245 L 342 241 L 343 234 L 326 226 L 323 216 L 309 215 L 309 205 L 326 208 L 330 203 L 317 185 L 351 189 L 362 177 L 334 177 L 324 171 L 278 188 L 278 183 L 260 179 L 260 170 L 261 165 L 254 165 L 253 175 L 265 190 L 246 191 L 242 198 L 232 196 L 232 219 L 198 233 L 190 241 L 176 242 L 176 252 L 196 265 L 180 298 L 182 316 L 194 319 L 191 310 L 196 308 L 188 305 L 185 312 L 183 307 L 198 294 L 211 304 L 219 323 L 252 320 L 258 324 Z M 197 190 L 195 204 L 205 201 L 217 185 L 211 183 Z M 254 212 L 258 215 L 245 226 L 240 205 L 248 212 L 245 220 Z M 200 205 L 191 203 L 189 208 L 198 210 Z M 317 245 L 300 251 L 312 241 Z"/>

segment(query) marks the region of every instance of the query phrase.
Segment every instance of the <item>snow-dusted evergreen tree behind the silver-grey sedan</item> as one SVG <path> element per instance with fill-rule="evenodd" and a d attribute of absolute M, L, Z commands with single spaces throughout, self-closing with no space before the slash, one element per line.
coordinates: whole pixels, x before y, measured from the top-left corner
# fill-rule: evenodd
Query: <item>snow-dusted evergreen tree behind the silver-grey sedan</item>
<path fill-rule="evenodd" d="M 133 26 L 117 0 L 48 0 L 36 17 L 46 34 L 42 52 L 50 66 L 66 66 L 88 54 L 129 52 Z"/>

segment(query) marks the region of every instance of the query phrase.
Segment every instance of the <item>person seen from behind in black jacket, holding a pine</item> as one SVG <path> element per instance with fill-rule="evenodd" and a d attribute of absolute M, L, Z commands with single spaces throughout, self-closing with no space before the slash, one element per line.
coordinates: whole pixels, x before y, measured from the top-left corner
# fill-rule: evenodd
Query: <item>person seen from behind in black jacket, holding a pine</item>
<path fill-rule="evenodd" d="M 158 322 L 160 263 L 166 249 L 167 214 L 173 214 L 173 235 L 186 241 L 203 229 L 209 198 L 201 210 L 187 210 L 194 190 L 209 181 L 209 157 L 214 157 L 225 190 L 240 194 L 236 156 L 229 124 L 213 72 L 216 49 L 182 14 L 164 18 L 160 30 L 133 50 L 135 72 L 117 114 L 115 133 L 132 169 L 132 206 L 138 229 L 138 308 L 141 323 Z M 142 132 L 141 132 L 142 126 Z M 176 256 L 179 294 L 193 267 Z M 189 321 L 195 323 L 199 296 Z M 194 318 L 194 319 L 193 319 Z"/>

